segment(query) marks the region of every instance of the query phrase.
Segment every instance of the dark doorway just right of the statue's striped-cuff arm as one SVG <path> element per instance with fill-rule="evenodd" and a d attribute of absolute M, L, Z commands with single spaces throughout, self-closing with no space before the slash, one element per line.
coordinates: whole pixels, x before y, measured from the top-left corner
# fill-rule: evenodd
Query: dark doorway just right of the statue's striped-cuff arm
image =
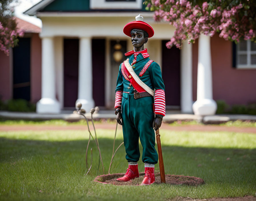
<path fill-rule="evenodd" d="M 165 104 L 180 106 L 180 50 L 168 49 L 162 41 L 162 77 L 165 84 Z"/>

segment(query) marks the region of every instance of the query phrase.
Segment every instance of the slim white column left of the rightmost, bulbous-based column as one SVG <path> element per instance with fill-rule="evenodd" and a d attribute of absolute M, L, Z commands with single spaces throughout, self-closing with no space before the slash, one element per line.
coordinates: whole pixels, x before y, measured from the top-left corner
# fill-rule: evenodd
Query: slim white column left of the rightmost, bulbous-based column
<path fill-rule="evenodd" d="M 183 42 L 181 49 L 181 112 L 192 113 L 192 45 Z"/>

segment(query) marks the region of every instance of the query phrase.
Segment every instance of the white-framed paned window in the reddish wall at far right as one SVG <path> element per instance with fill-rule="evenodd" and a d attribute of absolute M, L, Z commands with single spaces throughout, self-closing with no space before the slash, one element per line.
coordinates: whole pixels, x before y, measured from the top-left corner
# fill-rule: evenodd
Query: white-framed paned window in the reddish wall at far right
<path fill-rule="evenodd" d="M 256 68 L 256 43 L 241 40 L 237 44 L 237 68 Z"/>

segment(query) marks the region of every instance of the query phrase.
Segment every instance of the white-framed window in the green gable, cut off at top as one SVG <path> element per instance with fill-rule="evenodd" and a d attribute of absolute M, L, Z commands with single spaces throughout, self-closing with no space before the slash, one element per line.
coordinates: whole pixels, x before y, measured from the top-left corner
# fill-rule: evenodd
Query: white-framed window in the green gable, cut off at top
<path fill-rule="evenodd" d="M 142 9 L 142 0 L 90 0 L 90 9 Z"/>

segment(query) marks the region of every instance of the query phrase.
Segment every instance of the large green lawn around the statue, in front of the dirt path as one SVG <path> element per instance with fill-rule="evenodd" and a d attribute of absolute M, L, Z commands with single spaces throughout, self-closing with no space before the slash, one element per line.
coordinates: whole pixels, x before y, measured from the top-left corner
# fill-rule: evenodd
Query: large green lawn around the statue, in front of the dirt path
<path fill-rule="evenodd" d="M 99 154 L 93 141 L 90 143 L 93 149 L 92 169 L 85 176 L 88 131 L 2 131 L 0 200 L 166 200 L 176 196 L 255 196 L 256 134 L 160 132 L 165 173 L 200 177 L 205 184 L 195 187 L 95 183 L 93 179 L 97 176 Z M 99 129 L 97 136 L 107 174 L 114 130 Z M 118 130 L 116 147 L 121 142 L 122 131 Z M 88 156 L 90 163 L 90 153 Z M 111 173 L 125 172 L 126 168 L 125 150 L 121 146 L 115 155 Z M 155 169 L 158 172 L 159 166 L 156 165 Z M 139 171 L 144 171 L 141 161 Z M 102 174 L 101 167 L 99 174 Z"/>

